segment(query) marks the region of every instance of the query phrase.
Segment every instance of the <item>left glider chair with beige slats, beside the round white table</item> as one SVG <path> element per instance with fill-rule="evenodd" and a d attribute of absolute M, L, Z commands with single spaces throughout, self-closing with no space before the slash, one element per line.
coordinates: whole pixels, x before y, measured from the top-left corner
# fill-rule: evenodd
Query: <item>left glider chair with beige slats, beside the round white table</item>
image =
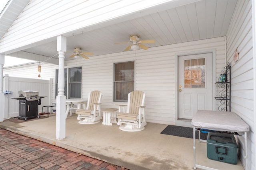
<path fill-rule="evenodd" d="M 99 123 L 102 119 L 100 115 L 102 93 L 100 91 L 92 91 L 88 94 L 88 102 L 86 109 L 76 109 L 78 123 L 80 124 L 94 124 Z M 81 120 L 83 119 L 83 120 Z"/>

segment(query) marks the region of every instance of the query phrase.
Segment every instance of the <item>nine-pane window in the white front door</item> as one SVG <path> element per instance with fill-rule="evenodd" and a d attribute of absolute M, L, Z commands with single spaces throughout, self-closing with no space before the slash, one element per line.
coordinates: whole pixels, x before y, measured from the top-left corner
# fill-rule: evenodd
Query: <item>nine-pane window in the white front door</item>
<path fill-rule="evenodd" d="M 205 59 L 184 61 L 184 88 L 205 88 Z"/>

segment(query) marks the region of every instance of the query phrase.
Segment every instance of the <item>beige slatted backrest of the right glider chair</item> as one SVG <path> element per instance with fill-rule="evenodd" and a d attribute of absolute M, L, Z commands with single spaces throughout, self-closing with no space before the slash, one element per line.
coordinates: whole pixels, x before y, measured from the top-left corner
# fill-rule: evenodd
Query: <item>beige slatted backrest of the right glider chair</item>
<path fill-rule="evenodd" d="M 139 114 L 139 107 L 137 106 L 144 106 L 143 95 L 144 92 L 138 90 L 130 92 L 129 113 Z"/>

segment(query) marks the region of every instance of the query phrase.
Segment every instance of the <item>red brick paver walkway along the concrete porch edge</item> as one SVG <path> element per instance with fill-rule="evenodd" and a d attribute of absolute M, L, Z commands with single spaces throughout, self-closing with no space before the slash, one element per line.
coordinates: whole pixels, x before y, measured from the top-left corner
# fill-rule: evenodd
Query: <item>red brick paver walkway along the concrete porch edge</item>
<path fill-rule="evenodd" d="M 0 170 L 128 170 L 0 129 Z"/>

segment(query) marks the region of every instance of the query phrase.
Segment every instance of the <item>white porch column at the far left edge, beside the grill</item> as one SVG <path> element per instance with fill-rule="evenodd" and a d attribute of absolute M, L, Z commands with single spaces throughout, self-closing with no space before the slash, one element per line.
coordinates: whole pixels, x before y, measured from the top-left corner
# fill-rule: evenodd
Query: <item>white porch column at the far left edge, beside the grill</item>
<path fill-rule="evenodd" d="M 4 121 L 4 54 L 0 54 L 0 122 Z"/>

